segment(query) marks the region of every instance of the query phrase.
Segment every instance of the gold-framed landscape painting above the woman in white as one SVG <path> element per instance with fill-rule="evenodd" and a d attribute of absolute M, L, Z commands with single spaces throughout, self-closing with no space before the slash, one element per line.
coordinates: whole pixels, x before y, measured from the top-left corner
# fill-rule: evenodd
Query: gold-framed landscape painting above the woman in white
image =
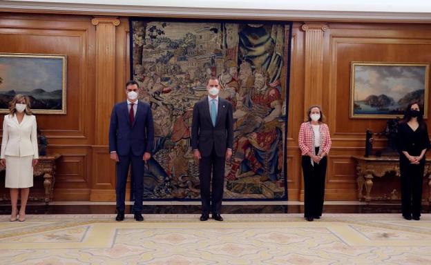
<path fill-rule="evenodd" d="M 32 111 L 66 114 L 66 55 L 0 53 L 0 112 L 17 94 L 30 97 Z"/>

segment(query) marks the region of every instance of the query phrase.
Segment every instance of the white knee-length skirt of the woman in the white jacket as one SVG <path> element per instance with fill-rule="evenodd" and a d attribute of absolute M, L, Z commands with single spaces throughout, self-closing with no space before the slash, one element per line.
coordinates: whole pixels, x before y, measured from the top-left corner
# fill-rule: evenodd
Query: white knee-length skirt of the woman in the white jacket
<path fill-rule="evenodd" d="M 29 188 L 33 186 L 33 156 L 10 157 L 6 155 L 6 188 Z"/>

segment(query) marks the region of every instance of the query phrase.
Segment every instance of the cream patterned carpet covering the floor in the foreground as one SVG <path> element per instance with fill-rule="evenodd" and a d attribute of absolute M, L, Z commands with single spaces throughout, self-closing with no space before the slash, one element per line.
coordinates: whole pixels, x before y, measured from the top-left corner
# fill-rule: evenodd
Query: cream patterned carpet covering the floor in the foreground
<path fill-rule="evenodd" d="M 431 264 L 431 215 L 0 216 L 0 264 Z"/>

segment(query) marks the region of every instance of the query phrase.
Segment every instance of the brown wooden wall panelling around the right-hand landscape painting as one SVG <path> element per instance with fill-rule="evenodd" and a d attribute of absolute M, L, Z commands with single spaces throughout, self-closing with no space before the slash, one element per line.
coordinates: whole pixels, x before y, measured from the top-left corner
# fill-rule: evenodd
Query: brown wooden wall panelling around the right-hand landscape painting
<path fill-rule="evenodd" d="M 327 169 L 327 199 L 356 199 L 356 175 L 352 155 L 363 155 L 365 130 L 384 130 L 387 119 L 349 118 L 350 63 L 352 61 L 421 62 L 431 61 L 431 26 L 396 24 L 329 23 L 326 91 L 328 124 L 332 133 L 332 154 Z M 430 86 L 430 84 L 428 84 Z M 429 99 L 427 99 L 429 101 Z M 428 113 L 430 117 L 430 110 Z M 375 137 L 374 148 L 386 139 Z M 336 154 L 336 155 L 334 155 Z M 338 168 L 350 168 L 345 173 Z M 380 179 L 379 179 L 380 180 Z M 383 179 L 386 186 L 399 186 L 399 179 Z M 399 190 L 398 190 L 399 191 Z M 373 189 L 375 195 L 390 190 Z"/>

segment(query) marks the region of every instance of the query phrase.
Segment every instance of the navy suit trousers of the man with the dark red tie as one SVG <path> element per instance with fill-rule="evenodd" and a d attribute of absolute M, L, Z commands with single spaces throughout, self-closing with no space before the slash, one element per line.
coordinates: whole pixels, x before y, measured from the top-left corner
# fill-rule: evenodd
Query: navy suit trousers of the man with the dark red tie
<path fill-rule="evenodd" d="M 117 210 L 124 211 L 126 198 L 126 180 L 128 175 L 128 167 L 131 166 L 131 177 L 133 182 L 133 213 L 142 213 L 142 196 L 144 195 L 144 160 L 142 156 L 132 154 L 126 156 L 118 156 L 117 163 L 117 187 L 115 193 L 117 195 Z"/>

